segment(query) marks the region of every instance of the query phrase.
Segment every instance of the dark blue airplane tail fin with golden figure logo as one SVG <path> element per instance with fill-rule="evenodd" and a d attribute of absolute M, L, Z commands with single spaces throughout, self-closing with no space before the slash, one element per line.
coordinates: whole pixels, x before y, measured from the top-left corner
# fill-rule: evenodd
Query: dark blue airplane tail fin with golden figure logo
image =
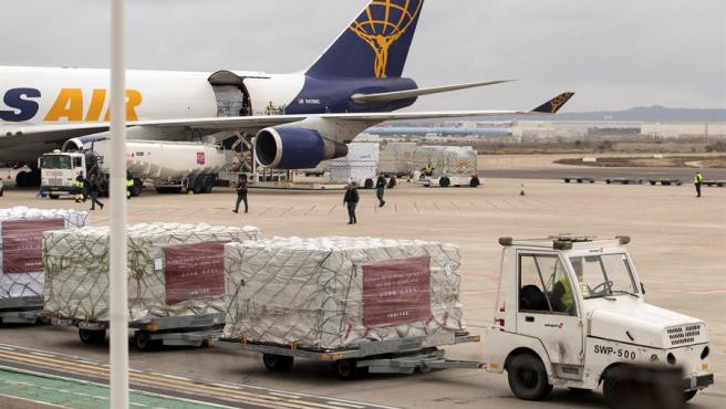
<path fill-rule="evenodd" d="M 423 6 L 424 0 L 372 0 L 307 74 L 400 77 Z"/>

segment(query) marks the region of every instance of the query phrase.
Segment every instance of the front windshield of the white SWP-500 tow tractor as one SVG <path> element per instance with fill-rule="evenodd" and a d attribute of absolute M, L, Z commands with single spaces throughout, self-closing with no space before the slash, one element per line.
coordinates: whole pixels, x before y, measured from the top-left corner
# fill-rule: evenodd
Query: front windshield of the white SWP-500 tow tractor
<path fill-rule="evenodd" d="M 628 254 L 600 254 L 570 258 L 583 298 L 616 295 L 637 296 L 637 287 Z"/>

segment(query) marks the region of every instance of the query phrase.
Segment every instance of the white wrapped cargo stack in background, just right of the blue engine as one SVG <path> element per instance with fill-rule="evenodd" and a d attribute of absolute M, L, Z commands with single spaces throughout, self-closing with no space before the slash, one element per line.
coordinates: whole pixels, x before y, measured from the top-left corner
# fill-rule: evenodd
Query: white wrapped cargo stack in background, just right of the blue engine
<path fill-rule="evenodd" d="M 348 156 L 330 161 L 330 181 L 348 183 L 355 181 L 363 185 L 378 172 L 381 148 L 374 143 L 354 143 L 348 145 Z"/>

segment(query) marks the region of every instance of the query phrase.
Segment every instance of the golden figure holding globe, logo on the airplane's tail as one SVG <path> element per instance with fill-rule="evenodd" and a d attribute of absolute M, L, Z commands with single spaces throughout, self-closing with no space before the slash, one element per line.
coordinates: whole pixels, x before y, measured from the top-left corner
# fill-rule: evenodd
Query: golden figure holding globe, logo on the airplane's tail
<path fill-rule="evenodd" d="M 424 0 L 375 0 L 351 24 L 350 30 L 375 53 L 376 78 L 387 77 L 388 50 L 417 20 Z"/>

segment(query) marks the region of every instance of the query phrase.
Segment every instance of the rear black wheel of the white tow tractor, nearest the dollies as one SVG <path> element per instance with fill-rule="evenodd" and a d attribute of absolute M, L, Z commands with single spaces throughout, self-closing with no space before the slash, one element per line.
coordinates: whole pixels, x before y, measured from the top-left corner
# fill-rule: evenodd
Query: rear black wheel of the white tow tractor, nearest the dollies
<path fill-rule="evenodd" d="M 544 364 L 531 354 L 515 356 L 507 369 L 509 388 L 522 400 L 542 400 L 552 391 Z"/>

